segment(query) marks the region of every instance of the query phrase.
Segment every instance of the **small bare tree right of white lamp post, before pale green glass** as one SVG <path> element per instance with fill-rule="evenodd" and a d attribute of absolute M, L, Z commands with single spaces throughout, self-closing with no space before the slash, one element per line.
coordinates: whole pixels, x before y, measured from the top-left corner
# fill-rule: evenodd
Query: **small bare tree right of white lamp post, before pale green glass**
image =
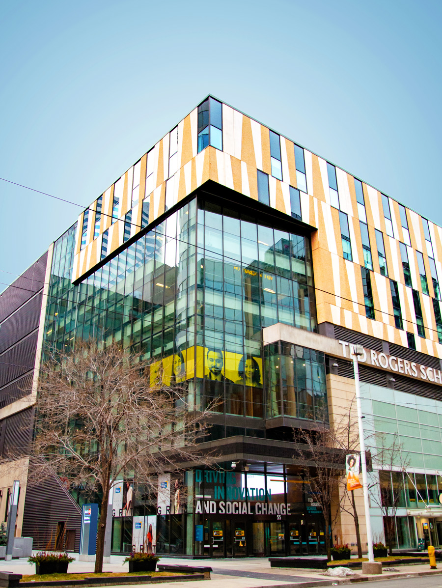
<path fill-rule="evenodd" d="M 404 451 L 399 436 L 377 434 L 373 437 L 373 464 L 377 476 L 370 484 L 370 499 L 376 503 L 384 519 L 384 532 L 389 555 L 393 554 L 396 540 L 394 520 L 404 493 L 404 476 L 410 465 L 410 457 Z"/>

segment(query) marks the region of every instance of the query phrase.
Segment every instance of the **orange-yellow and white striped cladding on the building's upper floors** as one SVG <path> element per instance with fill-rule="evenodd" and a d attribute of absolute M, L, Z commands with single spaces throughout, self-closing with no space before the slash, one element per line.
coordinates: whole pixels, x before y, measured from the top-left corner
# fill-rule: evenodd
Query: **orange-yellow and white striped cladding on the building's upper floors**
<path fill-rule="evenodd" d="M 273 178 L 270 166 L 269 128 L 223 104 L 223 151 L 207 147 L 197 153 L 197 108 L 193 109 L 178 124 L 178 169 L 169 178 L 169 135 L 165 135 L 140 159 L 136 168 L 139 177 L 139 203 L 132 208 L 130 234 L 138 232 L 142 201 L 150 198 L 149 222 L 153 222 L 189 193 L 211 179 L 227 188 L 257 200 L 256 170 L 269 174 L 270 206 L 291 214 L 289 186 L 297 186 L 293 142 L 281 136 L 281 162 L 283 179 Z M 350 242 L 353 262 L 343 258 L 339 212 L 331 206 L 327 162 L 318 155 L 304 149 L 307 193 L 301 192 L 302 220 L 316 231 L 312 233 L 312 254 L 318 322 L 333 322 L 353 330 L 359 330 L 407 346 L 406 332 L 414 332 L 418 350 L 442 357 L 442 346 L 437 342 L 436 324 L 431 300 L 421 296 L 424 325 L 427 339 L 417 336 L 411 289 L 404 285 L 399 241 L 404 242 L 400 221 L 399 204 L 390 199 L 391 222 L 394 238 L 386 233 L 381 193 L 372 186 L 363 184 L 367 225 L 373 256 L 374 275 L 371 274 L 376 319 L 365 316 L 364 296 L 361 285 L 360 264 L 363 249 L 360 236 L 359 216 L 354 189 L 354 178 L 343 169 L 336 168 L 341 211 L 349 218 Z M 145 193 L 146 170 L 152 171 Z M 109 229 L 108 253 L 123 243 L 125 213 L 129 211 L 132 195 L 133 168 L 130 168 L 103 194 L 100 235 L 94 239 L 95 212 L 89 213 L 86 246 L 81 247 L 81 231 L 78 230 L 73 279 L 81 278 L 101 260 L 101 234 Z M 138 178 L 137 178 L 138 180 Z M 136 185 L 136 183 L 135 183 Z M 167 186 L 167 188 L 166 188 Z M 118 218 L 112 224 L 112 203 L 115 190 L 120 197 Z M 93 203 L 92 208 L 95 208 Z M 411 248 L 407 246 L 413 288 L 421 291 L 414 249 L 423 253 L 428 288 L 434 295 L 426 241 L 420 216 L 408 210 L 408 230 Z M 79 217 L 79 226 L 82 215 Z M 434 259 L 439 282 L 442 285 L 442 228 L 429 222 Z M 399 297 L 404 319 L 404 331 L 394 328 L 393 306 L 389 279 L 380 274 L 374 229 L 384 235 L 389 278 L 399 285 Z"/>

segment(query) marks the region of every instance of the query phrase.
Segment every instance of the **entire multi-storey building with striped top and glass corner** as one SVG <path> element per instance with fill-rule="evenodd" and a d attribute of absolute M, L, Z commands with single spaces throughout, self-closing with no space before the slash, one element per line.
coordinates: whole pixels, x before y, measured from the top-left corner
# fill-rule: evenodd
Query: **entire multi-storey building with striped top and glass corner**
<path fill-rule="evenodd" d="M 202 449 L 216 447 L 220 459 L 180 479 L 158 472 L 158 494 L 135 482 L 128 516 L 117 480 L 113 552 L 134 544 L 189 556 L 322 552 L 324 520 L 293 457 L 293 431 L 348 414 L 349 345 L 360 343 L 364 423 L 400 439 L 410 462 L 403 474 L 373 459 L 381 502 L 399 499 L 396 545 L 442 546 L 441 235 L 207 98 L 2 294 L 0 450 L 18 455 L 28 443 L 35 398 L 24 399 L 22 383 L 38 373 L 41 343 L 120 341 L 152 358 L 152 384 L 183 382 L 192 409 L 212 406 Z M 28 434 L 18 441 L 20 427 Z M 0 468 L 0 516 L 11 479 Z M 18 530 L 38 529 L 35 547 L 45 547 L 38 537 L 69 519 L 69 549 L 78 549 L 86 490 L 55 479 L 40 493 L 26 489 Z M 41 516 L 42 499 L 51 516 Z M 383 515 L 371 512 L 382 537 Z M 354 543 L 345 513 L 334 534 Z"/>

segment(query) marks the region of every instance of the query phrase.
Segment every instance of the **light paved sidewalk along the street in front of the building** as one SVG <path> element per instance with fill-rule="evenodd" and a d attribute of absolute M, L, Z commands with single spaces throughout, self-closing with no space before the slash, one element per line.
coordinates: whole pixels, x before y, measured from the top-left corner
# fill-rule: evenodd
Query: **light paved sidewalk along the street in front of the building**
<path fill-rule="evenodd" d="M 78 558 L 78 554 L 76 554 Z M 123 556 L 111 556 L 111 563 L 103 564 L 103 572 L 126 572 L 128 564 L 123 564 Z M 162 557 L 160 563 L 184 564 L 187 566 L 210 566 L 213 569 L 212 578 L 203 584 L 200 580 L 190 582 L 164 582 L 162 586 L 175 586 L 183 588 L 261 588 L 267 586 L 281 588 L 307 588 L 310 586 L 331 586 L 336 584 L 349 584 L 357 580 L 387 580 L 400 577 L 410 577 L 427 574 L 442 574 L 442 564 L 437 570 L 430 570 L 428 564 L 397 566 L 397 572 L 384 572 L 380 576 L 363 576 L 361 570 L 354 570 L 356 576 L 346 578 L 324 576 L 322 570 L 278 569 L 270 567 L 269 560 L 263 558 L 242 559 L 210 559 L 190 560 L 177 559 L 175 557 Z M 8 571 L 19 574 L 34 574 L 34 564 L 29 564 L 25 558 L 13 559 L 6 562 L 0 560 L 0 571 Z M 69 564 L 69 572 L 93 572 L 92 562 L 75 562 Z M 441 578 L 442 584 L 442 578 Z M 142 584 L 139 584 L 142 585 Z M 115 585 L 113 588 L 119 588 Z"/>

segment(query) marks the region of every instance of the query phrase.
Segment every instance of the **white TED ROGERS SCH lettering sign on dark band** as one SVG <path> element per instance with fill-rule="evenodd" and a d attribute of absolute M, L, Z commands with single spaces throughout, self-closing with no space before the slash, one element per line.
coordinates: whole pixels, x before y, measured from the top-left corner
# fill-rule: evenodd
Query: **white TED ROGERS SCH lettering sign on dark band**
<path fill-rule="evenodd" d="M 344 358 L 353 359 L 350 355 L 353 349 L 353 343 L 339 340 L 342 346 Z M 408 359 L 397 358 L 396 355 L 386 355 L 374 351 L 374 349 L 365 349 L 364 355 L 358 358 L 359 363 L 367 363 L 374 368 L 382 368 L 389 372 L 403 373 L 404 376 L 415 377 L 419 380 L 426 380 L 434 384 L 442 385 L 442 372 L 440 369 L 429 368 L 422 363 L 410 362 Z"/>

